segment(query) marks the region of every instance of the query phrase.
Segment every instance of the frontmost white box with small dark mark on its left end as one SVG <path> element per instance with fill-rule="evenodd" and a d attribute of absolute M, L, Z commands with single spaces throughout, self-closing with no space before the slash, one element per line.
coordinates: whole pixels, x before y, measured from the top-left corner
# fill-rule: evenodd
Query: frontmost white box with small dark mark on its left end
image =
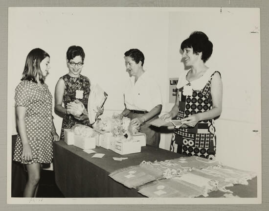
<path fill-rule="evenodd" d="M 127 155 L 131 153 L 141 152 L 141 143 L 140 141 L 126 141 L 119 140 L 115 141 L 115 150 L 114 152 L 120 155 Z"/>

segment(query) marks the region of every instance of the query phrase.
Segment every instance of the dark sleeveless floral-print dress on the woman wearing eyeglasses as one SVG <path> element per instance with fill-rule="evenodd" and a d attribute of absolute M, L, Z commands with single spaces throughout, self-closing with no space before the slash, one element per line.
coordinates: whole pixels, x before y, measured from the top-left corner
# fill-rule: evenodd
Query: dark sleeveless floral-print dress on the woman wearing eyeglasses
<path fill-rule="evenodd" d="M 67 103 L 74 100 L 79 100 L 80 102 L 83 103 L 86 110 L 88 111 L 88 98 L 90 94 L 90 79 L 81 74 L 77 78 L 71 77 L 68 74 L 62 76 L 61 78 L 65 82 L 65 91 L 64 91 L 64 96 L 63 96 L 63 102 L 64 102 L 65 108 L 67 108 Z M 70 129 L 75 124 L 83 124 L 83 125 L 91 126 L 89 118 L 78 120 L 75 117 L 73 117 L 73 115 L 65 115 L 63 118 L 60 139 L 64 139 L 64 129 Z"/>

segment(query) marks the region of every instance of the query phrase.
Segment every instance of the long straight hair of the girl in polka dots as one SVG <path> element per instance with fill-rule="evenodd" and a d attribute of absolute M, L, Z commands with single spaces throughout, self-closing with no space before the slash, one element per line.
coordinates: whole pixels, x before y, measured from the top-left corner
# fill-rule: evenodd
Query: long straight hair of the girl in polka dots
<path fill-rule="evenodd" d="M 21 80 L 28 80 L 37 83 L 37 77 L 41 83 L 44 83 L 42 71 L 40 69 L 40 63 L 49 57 L 48 53 L 40 48 L 32 49 L 25 61 L 24 70 L 22 72 Z"/>

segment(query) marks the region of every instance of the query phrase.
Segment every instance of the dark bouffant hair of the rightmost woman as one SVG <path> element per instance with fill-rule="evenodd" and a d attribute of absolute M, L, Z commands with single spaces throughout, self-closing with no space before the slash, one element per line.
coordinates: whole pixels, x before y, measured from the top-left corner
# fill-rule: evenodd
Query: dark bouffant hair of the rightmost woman
<path fill-rule="evenodd" d="M 212 54 L 213 44 L 208 40 L 208 37 L 202 31 L 191 33 L 189 38 L 181 43 L 180 48 L 183 50 L 186 47 L 192 47 L 193 53 L 202 52 L 202 61 L 205 63 Z"/>

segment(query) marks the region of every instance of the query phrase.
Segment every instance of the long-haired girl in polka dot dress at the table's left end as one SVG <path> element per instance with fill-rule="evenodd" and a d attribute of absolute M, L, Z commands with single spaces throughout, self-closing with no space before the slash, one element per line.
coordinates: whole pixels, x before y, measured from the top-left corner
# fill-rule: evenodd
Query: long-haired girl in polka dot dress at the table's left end
<path fill-rule="evenodd" d="M 52 120 L 52 95 L 44 83 L 49 68 L 49 55 L 40 48 L 31 50 L 15 90 L 18 136 L 13 160 L 27 169 L 23 197 L 36 196 L 42 164 L 51 163 L 52 141 L 59 141 Z"/>

